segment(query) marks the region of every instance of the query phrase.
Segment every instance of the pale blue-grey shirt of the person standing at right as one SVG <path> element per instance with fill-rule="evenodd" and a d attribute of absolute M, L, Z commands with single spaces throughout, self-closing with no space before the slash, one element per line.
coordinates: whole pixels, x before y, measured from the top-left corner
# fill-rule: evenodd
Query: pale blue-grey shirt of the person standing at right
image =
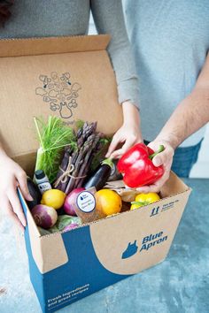
<path fill-rule="evenodd" d="M 143 138 L 152 141 L 190 95 L 209 52 L 208 0 L 123 0 L 140 81 Z M 196 145 L 205 127 L 182 142 Z"/>

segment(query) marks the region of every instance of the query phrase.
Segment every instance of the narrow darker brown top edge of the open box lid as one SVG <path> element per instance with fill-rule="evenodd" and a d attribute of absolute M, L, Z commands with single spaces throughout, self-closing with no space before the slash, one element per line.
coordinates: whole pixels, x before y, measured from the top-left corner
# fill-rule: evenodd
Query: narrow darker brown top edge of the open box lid
<path fill-rule="evenodd" d="M 99 51 L 106 49 L 110 39 L 109 34 L 1 39 L 0 57 Z"/>

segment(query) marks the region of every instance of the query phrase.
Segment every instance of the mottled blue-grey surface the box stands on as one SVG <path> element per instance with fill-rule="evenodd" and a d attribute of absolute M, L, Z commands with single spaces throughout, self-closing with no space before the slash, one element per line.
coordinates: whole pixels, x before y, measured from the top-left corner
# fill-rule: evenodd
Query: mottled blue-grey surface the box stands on
<path fill-rule="evenodd" d="M 60 313 L 208 313 L 209 179 L 187 179 L 193 188 L 166 260 L 75 302 Z M 0 223 L 0 313 L 41 313 L 27 269 L 23 238 Z"/>

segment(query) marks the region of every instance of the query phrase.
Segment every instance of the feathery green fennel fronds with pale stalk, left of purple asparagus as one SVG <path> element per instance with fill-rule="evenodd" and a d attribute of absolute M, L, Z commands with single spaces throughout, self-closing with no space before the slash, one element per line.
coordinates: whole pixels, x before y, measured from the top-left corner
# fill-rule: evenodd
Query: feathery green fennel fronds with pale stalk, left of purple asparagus
<path fill-rule="evenodd" d="M 60 157 L 64 147 L 76 146 L 74 130 L 66 126 L 61 118 L 49 117 L 47 122 L 43 118 L 34 118 L 40 148 L 37 151 L 36 170 L 43 170 L 50 183 L 56 179 Z"/>

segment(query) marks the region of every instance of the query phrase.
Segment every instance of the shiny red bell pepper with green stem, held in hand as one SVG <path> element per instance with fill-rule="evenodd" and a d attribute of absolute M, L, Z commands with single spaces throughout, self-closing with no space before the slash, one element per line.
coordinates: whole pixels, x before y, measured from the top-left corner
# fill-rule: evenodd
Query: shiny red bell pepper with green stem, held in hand
<path fill-rule="evenodd" d="M 151 159 L 164 150 L 154 151 L 143 143 L 137 143 L 129 149 L 119 160 L 118 170 L 124 174 L 123 181 L 128 187 L 136 188 L 149 186 L 157 181 L 163 174 L 162 165 L 156 167 Z"/>

